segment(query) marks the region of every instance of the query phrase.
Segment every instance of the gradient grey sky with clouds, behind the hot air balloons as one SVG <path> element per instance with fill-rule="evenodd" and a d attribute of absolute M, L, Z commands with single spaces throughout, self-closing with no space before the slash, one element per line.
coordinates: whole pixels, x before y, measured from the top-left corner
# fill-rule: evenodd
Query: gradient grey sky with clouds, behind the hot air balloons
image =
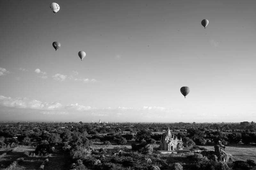
<path fill-rule="evenodd" d="M 0 120 L 255 121 L 255 0 L 54 2 L 0 1 Z"/>

